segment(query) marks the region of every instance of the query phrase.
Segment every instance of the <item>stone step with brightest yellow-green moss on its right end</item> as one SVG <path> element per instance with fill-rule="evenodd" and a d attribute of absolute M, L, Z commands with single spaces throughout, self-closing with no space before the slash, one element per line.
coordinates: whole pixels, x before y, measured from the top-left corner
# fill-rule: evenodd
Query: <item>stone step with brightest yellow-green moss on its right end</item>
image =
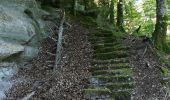
<path fill-rule="evenodd" d="M 130 68 L 122 68 L 122 69 L 111 69 L 107 70 L 94 70 L 92 71 L 92 75 L 129 75 L 132 76 L 133 71 Z"/>

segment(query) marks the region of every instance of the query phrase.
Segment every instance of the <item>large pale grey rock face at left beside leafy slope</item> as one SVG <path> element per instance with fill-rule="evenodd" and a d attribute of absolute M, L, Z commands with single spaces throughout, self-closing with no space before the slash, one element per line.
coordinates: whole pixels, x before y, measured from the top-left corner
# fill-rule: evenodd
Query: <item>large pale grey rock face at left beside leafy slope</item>
<path fill-rule="evenodd" d="M 0 0 L 0 100 L 18 67 L 37 56 L 45 36 L 42 10 L 35 0 Z M 31 16 L 25 13 L 29 11 Z"/>

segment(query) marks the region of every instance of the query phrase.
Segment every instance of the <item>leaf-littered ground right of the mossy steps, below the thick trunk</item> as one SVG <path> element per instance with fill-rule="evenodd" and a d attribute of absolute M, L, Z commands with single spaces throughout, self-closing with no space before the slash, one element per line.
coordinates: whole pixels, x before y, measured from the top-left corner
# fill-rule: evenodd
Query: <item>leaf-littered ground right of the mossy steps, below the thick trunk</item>
<path fill-rule="evenodd" d="M 161 63 L 146 38 L 131 37 L 125 40 L 135 53 L 131 56 L 134 78 L 137 82 L 134 100 L 166 100 L 161 81 Z"/>

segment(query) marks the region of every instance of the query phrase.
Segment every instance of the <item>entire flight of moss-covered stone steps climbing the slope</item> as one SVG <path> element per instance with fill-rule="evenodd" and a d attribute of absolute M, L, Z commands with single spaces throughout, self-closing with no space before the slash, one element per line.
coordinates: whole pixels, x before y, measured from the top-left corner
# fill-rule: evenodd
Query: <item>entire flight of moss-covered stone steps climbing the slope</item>
<path fill-rule="evenodd" d="M 135 82 L 129 63 L 131 48 L 112 32 L 89 34 L 94 49 L 85 100 L 130 100 Z"/>

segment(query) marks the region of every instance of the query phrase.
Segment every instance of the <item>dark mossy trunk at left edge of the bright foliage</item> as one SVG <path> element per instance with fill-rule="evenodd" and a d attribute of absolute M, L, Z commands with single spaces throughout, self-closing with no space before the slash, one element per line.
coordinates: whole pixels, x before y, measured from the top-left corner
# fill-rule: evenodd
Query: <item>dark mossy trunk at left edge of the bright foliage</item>
<path fill-rule="evenodd" d="M 121 31 L 125 32 L 123 28 L 123 0 L 119 0 L 117 3 L 117 26 Z"/>

